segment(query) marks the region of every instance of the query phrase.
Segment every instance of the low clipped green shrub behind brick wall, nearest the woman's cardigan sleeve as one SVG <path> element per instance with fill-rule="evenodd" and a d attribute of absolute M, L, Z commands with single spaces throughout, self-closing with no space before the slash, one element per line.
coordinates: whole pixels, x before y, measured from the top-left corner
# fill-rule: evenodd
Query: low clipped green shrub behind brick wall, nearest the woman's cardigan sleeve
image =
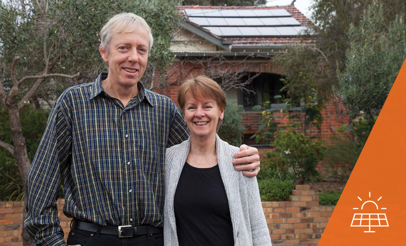
<path fill-rule="evenodd" d="M 262 201 L 287 201 L 293 190 L 293 183 L 288 180 L 259 180 L 258 186 Z"/>

